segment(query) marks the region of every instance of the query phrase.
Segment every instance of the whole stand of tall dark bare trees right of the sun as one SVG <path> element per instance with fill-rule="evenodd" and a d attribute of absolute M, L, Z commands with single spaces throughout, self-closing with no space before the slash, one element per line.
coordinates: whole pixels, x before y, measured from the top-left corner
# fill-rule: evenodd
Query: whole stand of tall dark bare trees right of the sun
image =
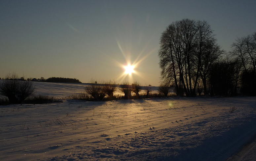
<path fill-rule="evenodd" d="M 238 38 L 227 54 L 206 21 L 183 19 L 162 33 L 159 57 L 163 84 L 177 95 L 255 94 L 256 33 Z"/>

